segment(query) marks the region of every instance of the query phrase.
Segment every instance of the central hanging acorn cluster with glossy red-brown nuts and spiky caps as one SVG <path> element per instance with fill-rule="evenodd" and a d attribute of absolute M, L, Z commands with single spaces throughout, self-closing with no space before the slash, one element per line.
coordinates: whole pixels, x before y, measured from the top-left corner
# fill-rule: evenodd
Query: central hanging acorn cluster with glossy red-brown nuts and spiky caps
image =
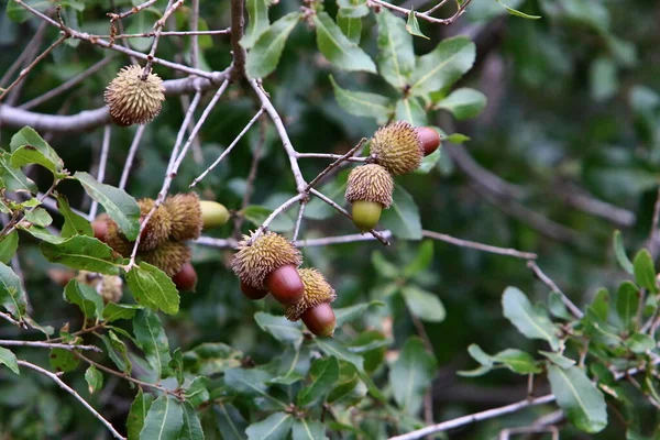
<path fill-rule="evenodd" d="M 256 231 L 243 235 L 232 268 L 248 298 L 262 299 L 270 292 L 286 307 L 287 319 L 302 319 L 314 334 L 331 337 L 337 323 L 330 306 L 337 298 L 334 289 L 316 268 L 299 268 L 301 263 L 300 251 L 290 241 Z"/>

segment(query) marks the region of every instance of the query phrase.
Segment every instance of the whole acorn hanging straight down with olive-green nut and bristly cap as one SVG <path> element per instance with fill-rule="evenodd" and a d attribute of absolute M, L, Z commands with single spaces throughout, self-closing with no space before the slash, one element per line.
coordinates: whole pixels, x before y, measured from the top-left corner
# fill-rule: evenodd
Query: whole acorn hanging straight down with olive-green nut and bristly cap
<path fill-rule="evenodd" d="M 376 164 L 353 168 L 346 185 L 346 201 L 352 204 L 353 223 L 362 232 L 378 223 L 383 208 L 392 205 L 394 180 L 387 169 Z"/>

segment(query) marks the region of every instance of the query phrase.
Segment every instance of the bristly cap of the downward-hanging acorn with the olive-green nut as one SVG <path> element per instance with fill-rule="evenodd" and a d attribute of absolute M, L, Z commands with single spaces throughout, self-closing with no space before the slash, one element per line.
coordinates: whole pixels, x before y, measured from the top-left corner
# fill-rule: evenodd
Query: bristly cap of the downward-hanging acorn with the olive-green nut
<path fill-rule="evenodd" d="M 394 180 L 387 169 L 376 164 L 367 164 L 353 168 L 346 185 L 346 201 L 376 201 L 385 209 L 392 205 Z"/>

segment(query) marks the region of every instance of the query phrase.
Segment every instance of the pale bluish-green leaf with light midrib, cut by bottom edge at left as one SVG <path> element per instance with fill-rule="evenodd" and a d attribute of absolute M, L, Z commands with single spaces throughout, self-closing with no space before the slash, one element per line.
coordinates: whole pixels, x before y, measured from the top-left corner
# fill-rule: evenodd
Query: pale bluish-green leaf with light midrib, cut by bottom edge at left
<path fill-rule="evenodd" d="M 182 404 L 175 397 L 163 395 L 148 408 L 140 440 L 178 440 L 183 426 Z"/>

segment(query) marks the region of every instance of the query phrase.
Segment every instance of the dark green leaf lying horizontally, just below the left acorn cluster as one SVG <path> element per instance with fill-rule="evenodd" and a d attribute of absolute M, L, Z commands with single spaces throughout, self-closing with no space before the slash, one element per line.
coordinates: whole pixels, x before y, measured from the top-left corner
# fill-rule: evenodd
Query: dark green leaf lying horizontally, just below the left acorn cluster
<path fill-rule="evenodd" d="M 74 235 L 61 243 L 41 242 L 42 254 L 51 263 L 98 272 L 105 275 L 119 275 L 122 258 L 114 256 L 114 251 L 106 243 L 86 235 Z"/>

